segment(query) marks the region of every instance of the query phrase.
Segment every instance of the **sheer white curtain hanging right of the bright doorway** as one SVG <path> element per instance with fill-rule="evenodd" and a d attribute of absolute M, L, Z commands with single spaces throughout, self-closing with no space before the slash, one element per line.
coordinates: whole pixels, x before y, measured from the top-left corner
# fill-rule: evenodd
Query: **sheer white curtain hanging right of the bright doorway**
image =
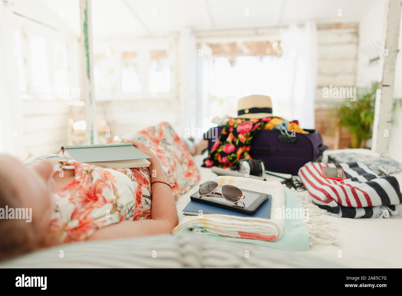
<path fill-rule="evenodd" d="M 285 58 L 291 120 L 299 120 L 302 128 L 314 128 L 314 100 L 317 83 L 317 26 L 306 22 L 303 27 L 292 24 L 281 31 L 282 56 Z"/>

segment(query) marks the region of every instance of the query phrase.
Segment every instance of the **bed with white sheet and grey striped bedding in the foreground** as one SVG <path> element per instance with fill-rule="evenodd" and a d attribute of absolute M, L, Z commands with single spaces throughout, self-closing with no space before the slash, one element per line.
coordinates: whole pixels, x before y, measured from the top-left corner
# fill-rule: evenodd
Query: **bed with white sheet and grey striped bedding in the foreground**
<path fill-rule="evenodd" d="M 197 155 L 194 160 L 201 164 L 203 157 Z M 199 171 L 199 182 L 215 176 L 209 168 L 199 167 Z M 402 182 L 402 174 L 395 176 Z M 176 203 L 179 217 L 190 193 Z M 326 219 L 336 231 L 336 243 L 316 244 L 306 251 L 284 251 L 195 234 L 158 235 L 57 246 L 3 262 L 0 267 L 402 267 L 402 217 L 348 219 L 328 215 Z"/>

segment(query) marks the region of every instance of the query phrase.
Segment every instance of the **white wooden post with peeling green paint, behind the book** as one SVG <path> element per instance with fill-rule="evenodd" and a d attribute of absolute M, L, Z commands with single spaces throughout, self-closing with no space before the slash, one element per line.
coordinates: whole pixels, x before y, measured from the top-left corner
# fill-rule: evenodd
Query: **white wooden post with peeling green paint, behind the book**
<path fill-rule="evenodd" d="M 80 87 L 81 97 L 85 102 L 86 144 L 98 143 L 98 128 L 96 127 L 96 103 L 94 96 L 91 18 L 91 1 L 80 0 Z"/>

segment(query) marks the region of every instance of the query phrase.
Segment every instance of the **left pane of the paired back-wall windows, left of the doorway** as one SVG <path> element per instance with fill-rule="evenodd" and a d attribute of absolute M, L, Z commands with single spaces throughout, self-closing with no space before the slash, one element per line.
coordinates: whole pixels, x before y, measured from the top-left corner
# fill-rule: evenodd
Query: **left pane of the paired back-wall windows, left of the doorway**
<path fill-rule="evenodd" d="M 121 53 L 121 89 L 123 93 L 139 93 L 141 91 L 136 60 L 136 52 Z"/>

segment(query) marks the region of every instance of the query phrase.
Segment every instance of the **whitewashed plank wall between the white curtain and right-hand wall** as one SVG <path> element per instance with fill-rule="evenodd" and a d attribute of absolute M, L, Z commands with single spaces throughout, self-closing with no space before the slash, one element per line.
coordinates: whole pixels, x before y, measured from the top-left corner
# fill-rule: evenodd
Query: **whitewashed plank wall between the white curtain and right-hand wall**
<path fill-rule="evenodd" d="M 323 88 L 356 86 L 358 24 L 326 24 L 317 28 L 316 129 L 330 149 L 342 149 L 350 146 L 350 135 L 345 129 L 334 127 L 336 118 L 329 116 L 329 109 L 344 99 L 324 98 Z"/>

